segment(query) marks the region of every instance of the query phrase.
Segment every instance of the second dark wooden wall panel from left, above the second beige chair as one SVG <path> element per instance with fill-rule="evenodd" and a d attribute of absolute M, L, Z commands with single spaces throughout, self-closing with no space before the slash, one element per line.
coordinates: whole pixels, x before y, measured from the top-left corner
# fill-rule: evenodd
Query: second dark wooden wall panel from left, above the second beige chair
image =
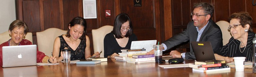
<path fill-rule="evenodd" d="M 58 0 L 44 0 L 44 29 L 59 28 L 61 29 L 60 6 Z M 43 30 L 42 30 L 43 31 Z"/>

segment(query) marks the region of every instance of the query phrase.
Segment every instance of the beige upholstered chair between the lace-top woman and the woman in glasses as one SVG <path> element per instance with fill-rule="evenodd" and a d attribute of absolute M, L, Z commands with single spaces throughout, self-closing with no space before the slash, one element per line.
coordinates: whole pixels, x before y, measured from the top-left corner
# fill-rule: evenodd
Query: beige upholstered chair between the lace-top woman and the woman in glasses
<path fill-rule="evenodd" d="M 106 34 L 110 33 L 113 30 L 113 26 L 102 26 L 98 29 L 92 30 L 92 41 L 93 41 L 93 49 L 95 52 L 100 52 L 100 57 L 104 57 L 104 38 Z"/>

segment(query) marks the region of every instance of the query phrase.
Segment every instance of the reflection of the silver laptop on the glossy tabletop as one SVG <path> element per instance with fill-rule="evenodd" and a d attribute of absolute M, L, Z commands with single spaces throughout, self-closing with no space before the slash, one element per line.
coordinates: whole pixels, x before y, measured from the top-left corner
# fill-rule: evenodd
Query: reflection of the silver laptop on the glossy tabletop
<path fill-rule="evenodd" d="M 37 77 L 37 66 L 3 68 L 4 77 Z"/>

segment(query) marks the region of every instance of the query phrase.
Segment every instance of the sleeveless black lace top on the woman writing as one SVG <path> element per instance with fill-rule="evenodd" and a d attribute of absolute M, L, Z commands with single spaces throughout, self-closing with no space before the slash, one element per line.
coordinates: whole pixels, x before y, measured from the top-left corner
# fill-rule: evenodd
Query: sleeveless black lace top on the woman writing
<path fill-rule="evenodd" d="M 85 47 L 86 47 L 86 41 L 82 41 L 80 42 L 79 46 L 76 48 L 76 50 L 73 50 L 65 41 L 65 39 L 63 38 L 63 36 L 59 36 L 60 38 L 60 52 L 62 49 L 64 49 L 65 47 L 67 47 L 68 49 L 70 49 L 70 60 L 81 60 L 81 59 L 85 59 Z M 60 56 L 60 55 L 59 55 Z"/>

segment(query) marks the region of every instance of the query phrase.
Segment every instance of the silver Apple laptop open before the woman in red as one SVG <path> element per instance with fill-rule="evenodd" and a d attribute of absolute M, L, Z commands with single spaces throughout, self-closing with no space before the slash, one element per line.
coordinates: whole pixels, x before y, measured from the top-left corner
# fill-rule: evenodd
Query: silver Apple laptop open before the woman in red
<path fill-rule="evenodd" d="M 36 65 L 36 45 L 3 46 L 3 66 Z"/>

